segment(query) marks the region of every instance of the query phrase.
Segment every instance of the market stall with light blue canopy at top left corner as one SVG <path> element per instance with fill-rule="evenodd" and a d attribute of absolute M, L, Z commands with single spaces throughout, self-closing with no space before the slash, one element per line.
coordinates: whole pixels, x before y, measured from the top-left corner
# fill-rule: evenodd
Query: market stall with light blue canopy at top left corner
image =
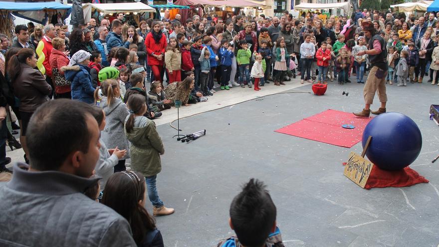
<path fill-rule="evenodd" d="M 0 32 L 12 36 L 13 15 L 45 25 L 63 22 L 70 15 L 72 7 L 60 2 L 10 2 L 0 1 Z M 59 20 L 58 20 L 59 19 Z"/>

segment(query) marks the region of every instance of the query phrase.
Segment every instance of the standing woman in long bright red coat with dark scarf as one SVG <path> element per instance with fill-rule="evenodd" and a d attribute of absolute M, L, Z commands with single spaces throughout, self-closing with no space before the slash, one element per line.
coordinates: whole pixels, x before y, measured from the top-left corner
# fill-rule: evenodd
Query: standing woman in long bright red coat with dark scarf
<path fill-rule="evenodd" d="M 148 52 L 148 65 L 154 74 L 154 80 L 162 82 L 161 72 L 165 60 L 166 37 L 160 28 L 160 22 L 154 21 L 153 28 L 145 38 L 145 47 Z"/>

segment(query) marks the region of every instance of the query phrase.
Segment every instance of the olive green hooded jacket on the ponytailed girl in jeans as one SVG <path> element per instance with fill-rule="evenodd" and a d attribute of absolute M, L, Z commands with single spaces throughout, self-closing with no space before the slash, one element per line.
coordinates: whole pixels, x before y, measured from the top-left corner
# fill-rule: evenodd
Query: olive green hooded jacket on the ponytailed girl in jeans
<path fill-rule="evenodd" d="M 128 118 L 125 119 L 125 126 Z M 136 117 L 134 128 L 127 133 L 130 141 L 131 167 L 136 172 L 141 172 L 145 177 L 157 175 L 162 171 L 160 155 L 165 152 L 162 138 L 156 130 L 156 124 L 146 117 Z"/>

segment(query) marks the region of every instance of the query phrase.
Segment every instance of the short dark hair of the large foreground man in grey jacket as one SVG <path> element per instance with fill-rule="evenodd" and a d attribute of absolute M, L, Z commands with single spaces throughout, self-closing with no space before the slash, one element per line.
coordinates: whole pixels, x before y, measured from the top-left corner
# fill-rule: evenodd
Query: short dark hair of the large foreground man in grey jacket
<path fill-rule="evenodd" d="M 57 171 L 76 151 L 88 152 L 91 141 L 86 117 L 90 105 L 70 99 L 50 100 L 33 113 L 27 127 L 26 143 L 32 168 Z"/>

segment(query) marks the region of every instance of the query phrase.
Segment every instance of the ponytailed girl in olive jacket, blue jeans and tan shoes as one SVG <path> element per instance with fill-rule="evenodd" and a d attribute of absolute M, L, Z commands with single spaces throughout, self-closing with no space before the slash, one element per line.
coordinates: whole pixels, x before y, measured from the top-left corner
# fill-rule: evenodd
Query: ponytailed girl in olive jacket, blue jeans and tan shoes
<path fill-rule="evenodd" d="M 145 96 L 131 95 L 128 108 L 130 115 L 125 119 L 125 134 L 131 143 L 131 168 L 145 177 L 154 216 L 173 214 L 174 209 L 166 208 L 157 192 L 157 174 L 162 171 L 160 155 L 165 152 L 165 148 L 156 124 L 144 116 L 148 109 Z"/>

